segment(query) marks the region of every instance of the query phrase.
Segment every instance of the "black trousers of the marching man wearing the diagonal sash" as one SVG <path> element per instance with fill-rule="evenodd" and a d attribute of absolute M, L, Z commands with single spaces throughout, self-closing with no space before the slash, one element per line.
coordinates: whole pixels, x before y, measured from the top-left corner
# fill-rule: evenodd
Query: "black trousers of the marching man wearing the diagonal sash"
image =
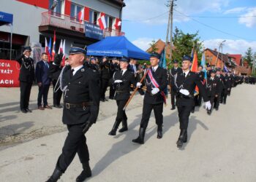
<path fill-rule="evenodd" d="M 146 127 L 148 127 L 148 121 L 149 121 L 152 109 L 154 110 L 156 124 L 161 126 L 162 122 L 163 122 L 162 121 L 163 120 L 163 117 L 162 117 L 163 107 L 164 107 L 164 103 L 150 104 L 150 103 L 145 103 L 145 101 L 144 101 L 140 127 L 143 127 L 146 130 Z"/>

